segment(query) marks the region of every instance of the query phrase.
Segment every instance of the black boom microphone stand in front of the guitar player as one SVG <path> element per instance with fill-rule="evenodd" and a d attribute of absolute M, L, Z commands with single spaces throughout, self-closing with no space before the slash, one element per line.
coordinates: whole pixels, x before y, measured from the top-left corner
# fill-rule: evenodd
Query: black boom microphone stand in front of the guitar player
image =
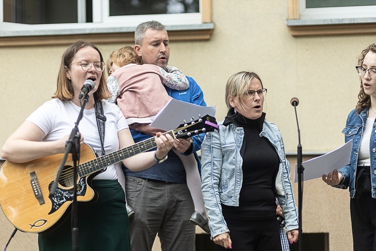
<path fill-rule="evenodd" d="M 71 132 L 71 135 L 69 136 L 68 141 L 65 144 L 65 153 L 63 160 L 60 164 L 59 172 L 57 173 L 56 179 L 54 183 L 52 184 L 50 188 L 50 195 L 54 195 L 58 186 L 58 183 L 60 181 L 61 174 L 65 168 L 65 163 L 67 161 L 68 154 L 72 154 L 72 160 L 73 160 L 73 202 L 72 202 L 72 250 L 77 251 L 78 250 L 78 217 L 77 217 L 77 165 L 80 161 L 80 133 L 78 131 L 78 124 L 80 120 L 83 117 L 83 111 L 85 109 L 85 105 L 89 100 L 89 95 L 86 94 L 81 104 L 81 110 L 78 114 L 77 121 L 75 123 L 75 126 Z"/>

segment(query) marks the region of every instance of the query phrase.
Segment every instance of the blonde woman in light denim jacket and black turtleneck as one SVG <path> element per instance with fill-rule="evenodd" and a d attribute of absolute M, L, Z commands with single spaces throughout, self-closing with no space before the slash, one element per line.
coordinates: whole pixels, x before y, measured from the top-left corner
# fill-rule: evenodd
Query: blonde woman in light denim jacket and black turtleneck
<path fill-rule="evenodd" d="M 265 120 L 260 77 L 239 72 L 226 85 L 229 112 L 202 144 L 202 191 L 218 250 L 281 250 L 277 197 L 289 242 L 298 240 L 298 212 L 281 133 Z M 231 238 L 230 233 L 231 232 Z"/>

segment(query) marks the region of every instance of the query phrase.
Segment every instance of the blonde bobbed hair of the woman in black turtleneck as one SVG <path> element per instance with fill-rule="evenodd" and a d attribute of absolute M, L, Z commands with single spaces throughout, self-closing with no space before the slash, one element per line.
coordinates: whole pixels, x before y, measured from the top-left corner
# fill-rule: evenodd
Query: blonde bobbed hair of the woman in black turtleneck
<path fill-rule="evenodd" d="M 227 108 L 230 110 L 232 108 L 230 100 L 238 98 L 238 102 L 243 109 L 247 109 L 247 105 L 243 102 L 242 97 L 247 95 L 249 83 L 253 78 L 257 78 L 261 82 L 261 87 L 263 87 L 260 77 L 252 71 L 241 71 L 232 75 L 226 83 L 225 91 L 225 101 Z"/>

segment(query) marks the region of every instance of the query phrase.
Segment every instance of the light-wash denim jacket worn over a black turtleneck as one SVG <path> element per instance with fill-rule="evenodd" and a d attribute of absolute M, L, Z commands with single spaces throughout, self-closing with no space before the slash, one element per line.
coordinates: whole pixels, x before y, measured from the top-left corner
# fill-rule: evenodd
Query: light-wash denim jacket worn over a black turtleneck
<path fill-rule="evenodd" d="M 242 188 L 243 159 L 240 153 L 244 130 L 231 123 L 219 122 L 219 132 L 208 133 L 201 146 L 202 192 L 209 216 L 211 237 L 229 232 L 221 203 L 239 206 Z M 282 136 L 274 123 L 264 120 L 260 137 L 266 137 L 275 147 L 279 160 L 276 194 L 286 218 L 286 232 L 298 228 L 298 210 L 292 193 L 290 164 L 286 159 Z"/>

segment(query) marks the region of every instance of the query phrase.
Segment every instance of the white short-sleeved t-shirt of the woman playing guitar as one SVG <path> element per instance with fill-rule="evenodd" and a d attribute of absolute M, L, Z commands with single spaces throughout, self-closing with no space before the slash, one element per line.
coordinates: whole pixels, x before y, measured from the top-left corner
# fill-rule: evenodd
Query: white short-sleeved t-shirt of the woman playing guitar
<path fill-rule="evenodd" d="M 128 125 L 117 105 L 107 101 L 102 102 L 102 104 L 106 116 L 104 150 L 108 154 L 119 149 L 117 134 L 119 131 L 128 128 Z M 35 123 L 46 134 L 43 141 L 56 141 L 71 134 L 80 110 L 81 107 L 72 101 L 52 99 L 41 105 L 26 120 Z M 84 142 L 92 147 L 98 156 L 101 156 L 101 142 L 94 108 L 84 109 L 84 115 L 78 124 L 78 129 L 84 137 Z M 120 167 L 121 163 L 115 165 Z M 94 179 L 117 179 L 115 165 L 108 166 L 105 172 L 101 172 Z"/>

